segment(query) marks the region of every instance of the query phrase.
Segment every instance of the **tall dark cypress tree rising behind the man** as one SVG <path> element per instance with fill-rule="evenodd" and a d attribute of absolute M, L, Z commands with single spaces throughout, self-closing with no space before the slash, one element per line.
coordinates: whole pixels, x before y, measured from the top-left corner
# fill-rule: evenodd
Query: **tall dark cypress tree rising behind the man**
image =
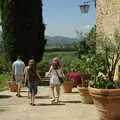
<path fill-rule="evenodd" d="M 18 55 L 27 61 L 42 59 L 46 44 L 42 0 L 0 0 L 5 56 L 14 61 Z"/>

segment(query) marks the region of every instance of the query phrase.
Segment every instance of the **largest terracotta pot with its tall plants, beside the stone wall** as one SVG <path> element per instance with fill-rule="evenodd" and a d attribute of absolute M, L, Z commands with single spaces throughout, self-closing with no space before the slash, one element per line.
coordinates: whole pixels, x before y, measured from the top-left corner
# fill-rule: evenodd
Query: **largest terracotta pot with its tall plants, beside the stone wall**
<path fill-rule="evenodd" d="M 113 38 L 100 34 L 96 37 L 96 59 L 89 92 L 93 96 L 100 120 L 120 120 L 120 84 L 114 80 L 120 60 L 120 36 L 115 31 Z"/>

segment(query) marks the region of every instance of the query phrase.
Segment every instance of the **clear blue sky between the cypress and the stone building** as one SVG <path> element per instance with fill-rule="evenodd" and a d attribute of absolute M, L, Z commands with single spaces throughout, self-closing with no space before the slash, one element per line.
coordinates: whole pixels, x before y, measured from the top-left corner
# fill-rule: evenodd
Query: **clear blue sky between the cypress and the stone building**
<path fill-rule="evenodd" d="M 96 9 L 91 2 L 88 14 L 81 14 L 81 0 L 42 0 L 45 34 L 77 37 L 76 30 L 89 31 L 96 23 Z"/>

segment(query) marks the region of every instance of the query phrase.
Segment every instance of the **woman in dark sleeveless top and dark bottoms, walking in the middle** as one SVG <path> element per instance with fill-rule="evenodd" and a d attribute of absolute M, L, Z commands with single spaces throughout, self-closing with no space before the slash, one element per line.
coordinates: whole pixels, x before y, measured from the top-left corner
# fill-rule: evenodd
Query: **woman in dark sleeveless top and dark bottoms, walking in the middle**
<path fill-rule="evenodd" d="M 28 62 L 28 67 L 25 72 L 25 83 L 28 81 L 30 105 L 35 105 L 35 95 L 37 94 L 37 78 L 40 79 L 40 75 L 36 70 L 35 61 L 31 59 Z"/>

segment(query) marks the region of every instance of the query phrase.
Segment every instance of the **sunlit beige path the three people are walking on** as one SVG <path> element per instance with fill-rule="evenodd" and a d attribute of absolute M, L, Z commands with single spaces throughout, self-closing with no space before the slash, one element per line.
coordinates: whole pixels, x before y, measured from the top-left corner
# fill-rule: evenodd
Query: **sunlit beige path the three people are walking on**
<path fill-rule="evenodd" d="M 76 88 L 72 93 L 63 93 L 60 104 L 50 104 L 48 87 L 39 87 L 36 106 L 29 105 L 26 88 L 22 97 L 16 93 L 0 92 L 0 120 L 98 120 L 94 104 L 82 104 Z"/>

